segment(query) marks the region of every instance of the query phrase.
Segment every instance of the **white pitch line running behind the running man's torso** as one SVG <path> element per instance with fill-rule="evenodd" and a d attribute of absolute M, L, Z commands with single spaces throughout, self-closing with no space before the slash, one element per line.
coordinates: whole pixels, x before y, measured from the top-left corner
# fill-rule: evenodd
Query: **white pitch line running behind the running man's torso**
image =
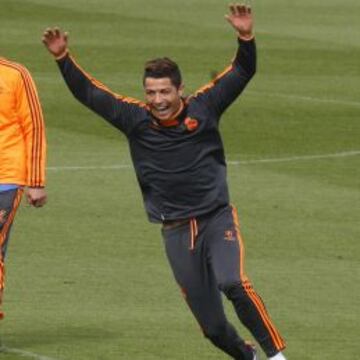
<path fill-rule="evenodd" d="M 343 151 L 333 154 L 318 154 L 318 155 L 303 155 L 303 156 L 289 156 L 283 158 L 268 158 L 268 159 L 254 159 L 254 160 L 228 160 L 229 165 L 251 165 L 261 163 L 280 163 L 280 162 L 294 162 L 317 159 L 331 159 L 339 157 L 349 157 L 360 155 L 360 150 Z M 78 170 L 121 170 L 129 169 L 133 166 L 130 164 L 119 164 L 109 166 L 49 166 L 48 171 L 78 171 Z"/>

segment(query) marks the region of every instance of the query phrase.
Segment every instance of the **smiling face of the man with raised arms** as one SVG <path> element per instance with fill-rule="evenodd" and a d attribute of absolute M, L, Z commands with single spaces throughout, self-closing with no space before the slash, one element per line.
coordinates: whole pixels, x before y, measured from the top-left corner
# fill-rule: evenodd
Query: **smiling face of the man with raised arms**
<path fill-rule="evenodd" d="M 180 110 L 183 85 L 176 87 L 170 78 L 144 79 L 145 99 L 151 112 L 159 120 L 170 120 Z"/>

